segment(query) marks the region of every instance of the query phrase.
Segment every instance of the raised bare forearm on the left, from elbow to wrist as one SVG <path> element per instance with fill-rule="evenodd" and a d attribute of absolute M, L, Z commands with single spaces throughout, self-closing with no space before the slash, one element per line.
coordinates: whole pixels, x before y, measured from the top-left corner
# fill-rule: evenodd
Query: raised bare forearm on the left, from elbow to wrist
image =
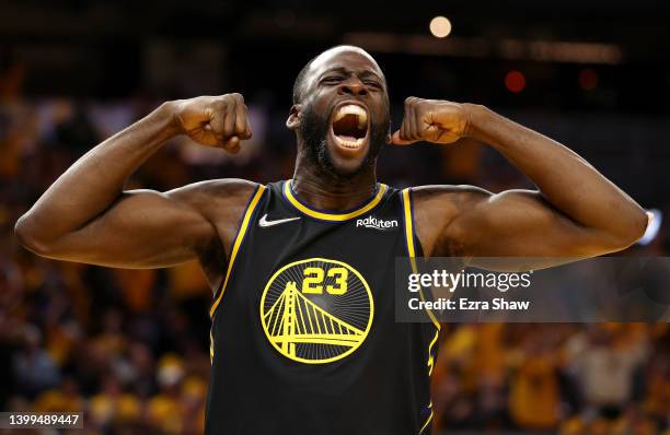
<path fill-rule="evenodd" d="M 107 209 L 126 179 L 176 134 L 170 103 L 100 143 L 66 171 L 16 223 L 26 243 L 48 244 Z"/>

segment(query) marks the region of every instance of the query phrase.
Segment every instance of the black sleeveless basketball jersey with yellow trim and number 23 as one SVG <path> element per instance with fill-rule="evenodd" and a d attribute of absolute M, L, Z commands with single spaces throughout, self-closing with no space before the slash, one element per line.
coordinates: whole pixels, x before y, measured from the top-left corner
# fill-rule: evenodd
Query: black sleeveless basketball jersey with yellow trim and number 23
<path fill-rule="evenodd" d="M 439 324 L 395 321 L 395 259 L 417 255 L 407 189 L 332 213 L 258 186 L 210 309 L 206 433 L 430 433 Z"/>

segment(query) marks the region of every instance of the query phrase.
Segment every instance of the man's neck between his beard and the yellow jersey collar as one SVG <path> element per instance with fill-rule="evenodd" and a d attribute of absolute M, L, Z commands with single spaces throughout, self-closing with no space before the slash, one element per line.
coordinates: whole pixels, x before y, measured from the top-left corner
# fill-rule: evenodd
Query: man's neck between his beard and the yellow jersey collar
<path fill-rule="evenodd" d="M 293 192 L 320 210 L 350 210 L 374 195 L 377 174 L 370 165 L 351 177 L 338 177 L 309 162 L 299 153 L 293 173 Z"/>

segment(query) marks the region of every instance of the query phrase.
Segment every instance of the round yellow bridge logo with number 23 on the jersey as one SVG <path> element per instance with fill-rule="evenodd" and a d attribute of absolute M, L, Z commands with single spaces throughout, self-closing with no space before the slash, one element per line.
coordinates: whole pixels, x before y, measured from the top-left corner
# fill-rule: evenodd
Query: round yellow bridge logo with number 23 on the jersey
<path fill-rule="evenodd" d="M 325 258 L 294 261 L 269 279 L 261 322 L 284 356 L 308 364 L 340 360 L 368 337 L 374 304 L 365 278 Z"/>

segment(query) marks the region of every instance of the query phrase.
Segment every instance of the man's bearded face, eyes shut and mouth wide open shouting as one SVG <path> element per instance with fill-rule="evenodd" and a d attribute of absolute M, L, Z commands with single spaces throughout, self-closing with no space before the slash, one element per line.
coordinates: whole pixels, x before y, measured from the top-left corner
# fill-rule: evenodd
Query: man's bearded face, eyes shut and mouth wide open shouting
<path fill-rule="evenodd" d="M 348 47 L 322 54 L 304 77 L 300 118 L 308 151 L 324 169 L 350 177 L 373 165 L 390 126 L 377 62 Z"/>

